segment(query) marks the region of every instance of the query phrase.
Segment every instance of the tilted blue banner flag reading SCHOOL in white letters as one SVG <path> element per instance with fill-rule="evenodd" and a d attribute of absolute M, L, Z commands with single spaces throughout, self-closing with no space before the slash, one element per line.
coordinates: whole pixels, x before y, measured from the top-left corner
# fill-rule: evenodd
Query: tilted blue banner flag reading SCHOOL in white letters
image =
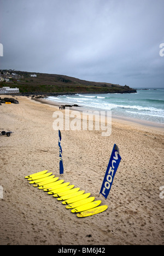
<path fill-rule="evenodd" d="M 109 195 L 110 189 L 112 187 L 113 179 L 118 169 L 121 161 L 121 156 L 119 154 L 119 148 L 114 144 L 112 154 L 110 156 L 109 164 L 107 167 L 106 175 L 103 180 L 103 184 L 99 194 L 102 194 L 106 199 Z"/>

